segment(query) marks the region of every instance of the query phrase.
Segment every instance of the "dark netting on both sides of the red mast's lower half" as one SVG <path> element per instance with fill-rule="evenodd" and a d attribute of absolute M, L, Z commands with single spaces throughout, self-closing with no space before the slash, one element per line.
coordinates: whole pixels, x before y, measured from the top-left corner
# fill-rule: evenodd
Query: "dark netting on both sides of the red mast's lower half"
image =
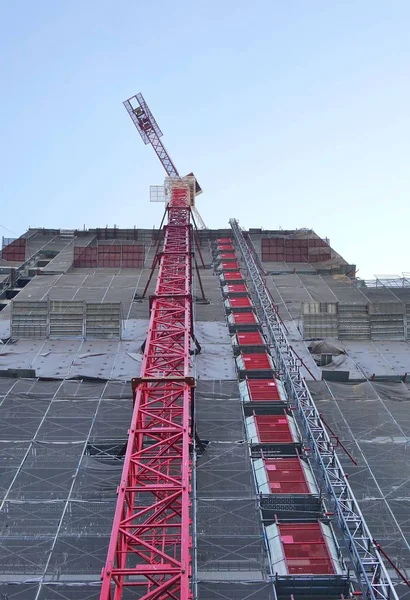
<path fill-rule="evenodd" d="M 0 598 L 97 600 L 132 414 L 124 382 L 0 378 Z M 198 381 L 200 598 L 269 598 L 236 380 Z M 136 589 L 124 600 L 138 598 Z"/>

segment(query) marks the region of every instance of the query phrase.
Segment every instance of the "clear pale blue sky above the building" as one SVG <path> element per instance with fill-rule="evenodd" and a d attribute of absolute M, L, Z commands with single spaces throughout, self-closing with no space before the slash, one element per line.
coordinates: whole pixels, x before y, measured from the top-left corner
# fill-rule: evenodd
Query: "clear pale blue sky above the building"
<path fill-rule="evenodd" d="M 0 235 L 159 225 L 142 92 L 208 227 L 410 271 L 409 31 L 409 0 L 0 0 Z"/>

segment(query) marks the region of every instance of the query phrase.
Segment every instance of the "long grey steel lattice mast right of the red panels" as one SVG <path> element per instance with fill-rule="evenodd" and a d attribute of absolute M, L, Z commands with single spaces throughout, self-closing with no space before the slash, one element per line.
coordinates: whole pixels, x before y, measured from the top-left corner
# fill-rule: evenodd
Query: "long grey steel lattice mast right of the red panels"
<path fill-rule="evenodd" d="M 396 590 L 383 563 L 379 549 L 373 541 L 357 500 L 347 481 L 345 470 L 336 455 L 335 447 L 301 374 L 301 361 L 295 355 L 287 340 L 285 328 L 272 303 L 255 258 L 246 244 L 238 221 L 231 219 L 230 225 L 254 288 L 255 300 L 276 367 L 280 371 L 289 398 L 294 402 L 299 413 L 312 457 L 316 459 L 320 467 L 326 492 L 345 538 L 346 547 L 357 577 L 357 586 L 362 592 L 363 598 L 397 600 Z"/>

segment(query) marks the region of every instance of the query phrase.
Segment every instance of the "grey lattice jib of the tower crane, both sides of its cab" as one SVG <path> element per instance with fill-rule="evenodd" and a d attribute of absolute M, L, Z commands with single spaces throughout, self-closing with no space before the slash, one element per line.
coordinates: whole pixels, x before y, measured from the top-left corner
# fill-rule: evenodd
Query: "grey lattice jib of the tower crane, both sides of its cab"
<path fill-rule="evenodd" d="M 154 151 L 164 167 L 168 177 L 181 179 L 175 164 L 173 163 L 170 155 L 160 139 L 163 136 L 163 133 L 158 127 L 158 123 L 156 122 L 148 104 L 145 102 L 144 96 L 142 94 L 136 94 L 135 96 L 128 98 L 128 100 L 125 100 L 123 104 L 127 109 L 132 122 L 137 128 L 137 131 L 140 134 L 144 144 L 151 144 L 151 146 L 154 148 Z M 194 174 L 188 173 L 187 177 L 194 177 Z M 207 229 L 198 209 L 195 206 L 195 196 L 198 196 L 201 193 L 202 189 L 195 179 L 195 194 L 190 196 L 191 210 L 196 217 L 199 227 L 201 229 Z"/>

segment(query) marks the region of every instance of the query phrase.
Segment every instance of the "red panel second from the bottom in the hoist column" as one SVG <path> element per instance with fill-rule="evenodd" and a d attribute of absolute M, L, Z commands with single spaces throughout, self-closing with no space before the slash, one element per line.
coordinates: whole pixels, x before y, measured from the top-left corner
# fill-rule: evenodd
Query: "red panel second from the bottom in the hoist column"
<path fill-rule="evenodd" d="M 266 458 L 264 463 L 272 494 L 310 494 L 300 458 Z"/>

